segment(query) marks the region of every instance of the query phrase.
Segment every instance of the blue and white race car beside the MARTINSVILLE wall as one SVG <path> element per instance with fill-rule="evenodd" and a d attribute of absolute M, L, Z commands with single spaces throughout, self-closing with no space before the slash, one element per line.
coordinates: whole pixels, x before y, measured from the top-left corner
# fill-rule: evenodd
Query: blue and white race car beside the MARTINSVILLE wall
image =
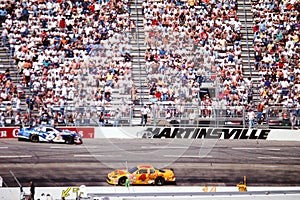
<path fill-rule="evenodd" d="M 18 140 L 30 140 L 32 142 L 54 142 L 66 144 L 82 144 L 82 137 L 75 131 L 60 130 L 50 125 L 21 128 Z"/>

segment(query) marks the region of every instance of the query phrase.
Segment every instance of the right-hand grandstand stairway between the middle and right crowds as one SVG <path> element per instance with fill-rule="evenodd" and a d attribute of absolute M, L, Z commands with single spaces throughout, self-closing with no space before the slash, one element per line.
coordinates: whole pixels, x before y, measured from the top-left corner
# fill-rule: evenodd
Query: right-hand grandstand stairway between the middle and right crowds
<path fill-rule="evenodd" d="M 241 40 L 242 46 L 242 65 L 243 74 L 245 77 L 251 77 L 253 81 L 253 102 L 259 100 L 259 76 L 254 69 L 254 48 L 253 48 L 253 17 L 252 17 L 252 1 L 238 0 L 237 16 L 242 23 L 241 33 L 243 35 Z"/>

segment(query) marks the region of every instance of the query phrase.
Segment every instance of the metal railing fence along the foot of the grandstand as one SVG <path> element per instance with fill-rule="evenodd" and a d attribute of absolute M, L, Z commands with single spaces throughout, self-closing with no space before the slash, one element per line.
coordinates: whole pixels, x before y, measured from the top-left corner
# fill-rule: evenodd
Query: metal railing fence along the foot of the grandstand
<path fill-rule="evenodd" d="M 193 104 L 175 104 L 174 102 L 157 102 L 147 105 L 146 126 L 172 127 L 249 127 L 248 112 L 241 107 L 213 107 Z M 5 108 L 2 108 L 5 113 Z M 57 126 L 141 126 L 141 105 L 124 104 L 106 107 L 94 106 L 53 106 L 48 108 L 48 117 L 42 117 L 37 110 L 23 110 L 34 115 L 22 118 L 24 125 L 52 124 Z M 99 121 L 104 114 L 104 122 Z M 300 109 L 285 106 L 269 106 L 257 117 L 255 111 L 254 128 L 290 128 L 292 117 L 300 119 Z M 5 116 L 5 126 L 15 126 L 14 116 Z M 27 123 L 27 124 L 26 124 Z"/>

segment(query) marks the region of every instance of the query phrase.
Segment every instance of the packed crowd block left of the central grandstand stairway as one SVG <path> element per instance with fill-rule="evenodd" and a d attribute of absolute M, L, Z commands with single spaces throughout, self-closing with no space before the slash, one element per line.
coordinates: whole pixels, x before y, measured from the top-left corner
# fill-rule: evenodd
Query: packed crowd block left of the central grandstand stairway
<path fill-rule="evenodd" d="M 106 114 L 113 89 L 132 89 L 129 1 L 1 0 L 0 22 L 22 77 L 16 86 L 1 73 L 2 125 L 88 123 Z"/>

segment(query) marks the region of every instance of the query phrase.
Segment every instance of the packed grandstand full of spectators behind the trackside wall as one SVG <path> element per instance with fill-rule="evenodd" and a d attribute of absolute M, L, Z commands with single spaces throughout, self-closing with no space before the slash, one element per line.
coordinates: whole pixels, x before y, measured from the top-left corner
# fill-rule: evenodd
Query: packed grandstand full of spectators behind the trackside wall
<path fill-rule="evenodd" d="M 145 104 L 151 125 L 246 127 L 258 102 L 257 127 L 299 116 L 298 1 L 3 2 L 4 126 L 139 125 Z"/>

